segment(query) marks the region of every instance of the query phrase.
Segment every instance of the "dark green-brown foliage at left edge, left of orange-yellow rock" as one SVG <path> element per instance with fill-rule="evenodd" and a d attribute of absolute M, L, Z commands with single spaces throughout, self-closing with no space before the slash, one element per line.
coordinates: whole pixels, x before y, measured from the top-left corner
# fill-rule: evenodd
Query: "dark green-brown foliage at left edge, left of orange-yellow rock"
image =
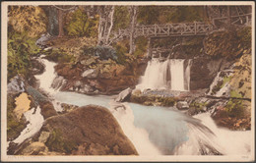
<path fill-rule="evenodd" d="M 7 139 L 14 139 L 26 128 L 26 120 L 24 117 L 19 121 L 13 110 L 15 109 L 14 96 L 7 95 Z"/>

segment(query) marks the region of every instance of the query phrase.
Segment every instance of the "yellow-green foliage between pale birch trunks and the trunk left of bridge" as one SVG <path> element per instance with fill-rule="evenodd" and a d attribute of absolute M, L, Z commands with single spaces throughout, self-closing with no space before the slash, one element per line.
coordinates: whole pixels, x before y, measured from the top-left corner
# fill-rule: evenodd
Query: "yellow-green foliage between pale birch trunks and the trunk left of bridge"
<path fill-rule="evenodd" d="M 130 13 L 127 6 L 116 6 L 114 11 L 113 30 L 129 27 Z"/>

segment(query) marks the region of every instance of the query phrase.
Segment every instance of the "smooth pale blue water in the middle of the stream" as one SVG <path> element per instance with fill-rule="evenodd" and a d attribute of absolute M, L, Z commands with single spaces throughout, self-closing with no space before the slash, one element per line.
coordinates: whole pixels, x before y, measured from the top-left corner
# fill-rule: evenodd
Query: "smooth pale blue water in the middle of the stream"
<path fill-rule="evenodd" d="M 111 108 L 111 96 L 89 96 L 75 92 L 58 92 L 55 99 L 59 102 L 85 106 L 95 104 Z M 188 140 L 188 128 L 185 116 L 173 108 L 144 106 L 135 103 L 125 103 L 126 109 L 131 109 L 134 116 L 133 125 L 144 129 L 149 134 L 150 141 L 160 149 L 162 154 L 171 154 L 175 146 Z M 128 114 L 128 113 L 127 113 Z M 118 117 L 117 117 L 118 119 Z M 127 118 L 126 121 L 132 121 Z"/>

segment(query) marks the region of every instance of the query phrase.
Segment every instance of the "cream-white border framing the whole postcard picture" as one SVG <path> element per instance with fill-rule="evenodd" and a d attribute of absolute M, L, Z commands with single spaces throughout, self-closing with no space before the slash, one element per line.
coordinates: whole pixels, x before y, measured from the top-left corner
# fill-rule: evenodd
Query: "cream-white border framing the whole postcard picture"
<path fill-rule="evenodd" d="M 255 160 L 255 5 L 252 1 L 185 1 L 185 2 L 158 2 L 158 1 L 144 1 L 144 2 L 50 2 L 50 1 L 13 1 L 2 3 L 2 37 L 1 37 L 1 161 L 21 162 L 21 161 L 239 161 L 247 162 Z M 252 6 L 252 145 L 251 156 L 10 156 L 7 155 L 7 123 L 6 123 L 6 95 L 7 95 L 7 6 L 8 5 L 251 5 Z"/>

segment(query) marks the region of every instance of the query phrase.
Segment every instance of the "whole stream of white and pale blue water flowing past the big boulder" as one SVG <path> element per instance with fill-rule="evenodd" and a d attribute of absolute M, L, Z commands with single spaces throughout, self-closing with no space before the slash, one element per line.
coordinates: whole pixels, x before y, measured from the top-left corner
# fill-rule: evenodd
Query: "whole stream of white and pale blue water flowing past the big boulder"
<path fill-rule="evenodd" d="M 251 131 L 219 128 L 209 113 L 189 117 L 174 107 L 117 103 L 113 100 L 115 96 L 54 90 L 51 82 L 56 77 L 56 64 L 43 58 L 39 60 L 45 64 L 45 71 L 35 78 L 40 82 L 40 88 L 54 99 L 56 111 L 62 110 L 60 103 L 95 104 L 108 108 L 139 155 L 249 155 L 251 152 Z M 41 128 L 43 121 L 40 123 L 35 127 Z"/>

